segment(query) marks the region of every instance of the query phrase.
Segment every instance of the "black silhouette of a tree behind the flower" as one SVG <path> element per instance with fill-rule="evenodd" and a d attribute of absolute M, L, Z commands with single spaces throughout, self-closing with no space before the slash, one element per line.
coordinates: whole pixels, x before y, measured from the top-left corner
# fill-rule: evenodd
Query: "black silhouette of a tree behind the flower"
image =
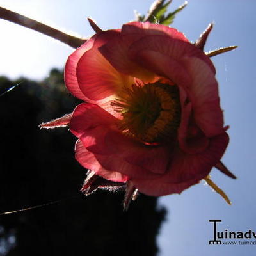
<path fill-rule="evenodd" d="M 139 195 L 128 212 L 124 192 L 81 195 L 86 170 L 74 159 L 76 138 L 67 128 L 38 125 L 70 113 L 79 101 L 54 69 L 42 82 L 0 77 L 0 255 L 156 255 L 156 236 L 166 214 L 157 198 Z"/>

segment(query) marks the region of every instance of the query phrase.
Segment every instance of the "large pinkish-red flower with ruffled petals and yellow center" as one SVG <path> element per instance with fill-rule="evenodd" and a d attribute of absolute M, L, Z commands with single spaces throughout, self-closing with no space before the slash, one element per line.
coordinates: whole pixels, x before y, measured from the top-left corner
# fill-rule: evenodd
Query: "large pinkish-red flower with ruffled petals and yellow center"
<path fill-rule="evenodd" d="M 181 193 L 214 166 L 232 177 L 220 162 L 228 135 L 215 68 L 198 45 L 174 28 L 131 22 L 71 54 L 65 84 L 84 103 L 54 122 L 70 122 L 91 176 L 150 196 Z"/>

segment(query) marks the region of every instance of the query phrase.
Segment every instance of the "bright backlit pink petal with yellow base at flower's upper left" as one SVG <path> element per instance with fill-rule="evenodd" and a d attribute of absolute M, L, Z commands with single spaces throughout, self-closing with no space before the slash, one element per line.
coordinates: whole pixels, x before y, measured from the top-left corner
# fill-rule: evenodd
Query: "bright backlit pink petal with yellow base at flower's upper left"
<path fill-rule="evenodd" d="M 119 34 L 118 30 L 97 33 L 68 58 L 65 83 L 74 96 L 90 103 L 106 102 L 114 99 L 111 96 L 116 90 L 133 83 L 130 76 L 117 72 L 98 51 L 109 38 Z"/>

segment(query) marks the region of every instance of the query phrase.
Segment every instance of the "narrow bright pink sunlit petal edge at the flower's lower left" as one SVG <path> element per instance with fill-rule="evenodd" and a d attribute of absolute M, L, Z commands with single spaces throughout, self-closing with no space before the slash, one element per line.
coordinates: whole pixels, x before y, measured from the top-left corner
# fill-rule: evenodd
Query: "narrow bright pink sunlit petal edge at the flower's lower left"
<path fill-rule="evenodd" d="M 103 168 L 95 156 L 86 150 L 83 143 L 77 140 L 76 146 L 76 160 L 86 169 L 93 170 L 97 175 L 104 177 L 104 179 L 112 180 L 115 182 L 126 182 L 128 177 L 120 172 L 115 172 L 111 170 L 106 170 Z"/>

